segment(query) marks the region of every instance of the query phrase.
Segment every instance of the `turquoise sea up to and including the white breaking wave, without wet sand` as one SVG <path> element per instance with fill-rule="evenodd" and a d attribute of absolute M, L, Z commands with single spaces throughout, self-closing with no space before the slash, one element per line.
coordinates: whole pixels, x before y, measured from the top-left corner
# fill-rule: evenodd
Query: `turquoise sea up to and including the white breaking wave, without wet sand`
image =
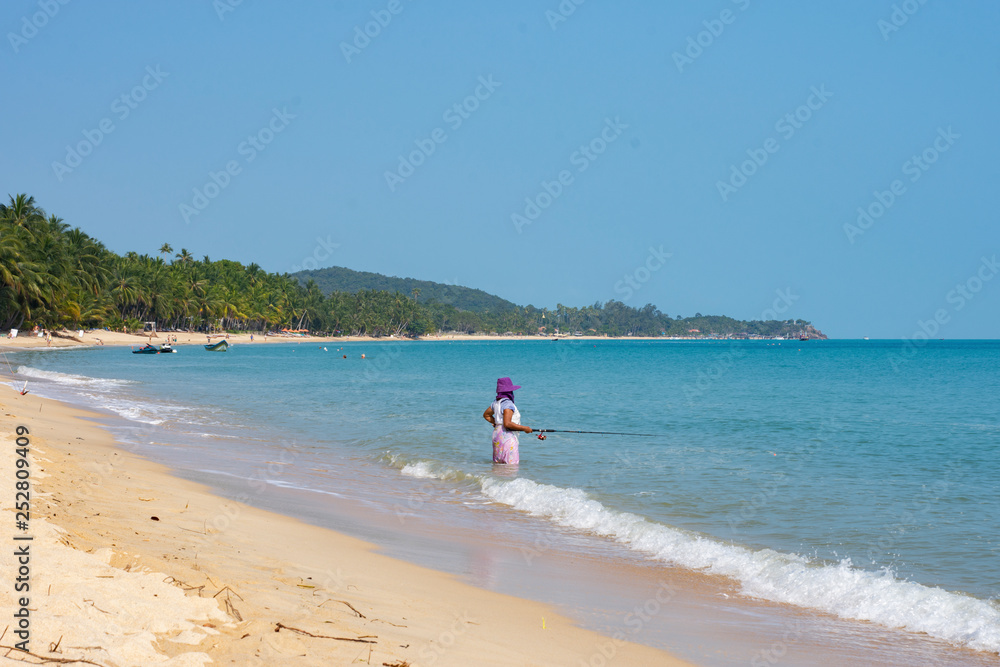
<path fill-rule="evenodd" d="M 513 508 L 583 551 L 1000 652 L 1000 342 L 340 347 L 11 359 L 37 393 L 110 410 L 142 451 L 250 493 L 361 499 L 400 522 Z M 657 437 L 522 435 L 520 466 L 493 466 L 481 414 L 507 375 L 529 426 Z"/>

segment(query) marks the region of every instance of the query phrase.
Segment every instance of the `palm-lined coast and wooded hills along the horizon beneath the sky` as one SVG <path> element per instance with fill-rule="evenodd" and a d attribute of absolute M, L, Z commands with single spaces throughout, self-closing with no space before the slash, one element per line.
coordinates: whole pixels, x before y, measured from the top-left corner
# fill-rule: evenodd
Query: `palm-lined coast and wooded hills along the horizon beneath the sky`
<path fill-rule="evenodd" d="M 620 301 L 554 309 L 482 290 L 330 267 L 268 273 L 200 260 L 167 243 L 160 256 L 118 255 L 33 197 L 0 204 L 0 329 L 276 331 L 412 336 L 431 333 L 677 338 L 826 338 L 805 320 L 671 317 Z"/>

